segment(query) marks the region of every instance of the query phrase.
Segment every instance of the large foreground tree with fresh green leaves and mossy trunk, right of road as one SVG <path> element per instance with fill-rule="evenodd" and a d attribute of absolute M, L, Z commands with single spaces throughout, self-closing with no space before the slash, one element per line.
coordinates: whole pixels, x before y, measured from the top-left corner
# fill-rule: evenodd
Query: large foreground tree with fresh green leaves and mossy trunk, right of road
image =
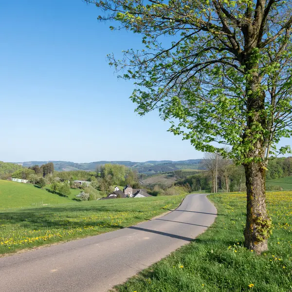
<path fill-rule="evenodd" d="M 127 70 L 121 77 L 135 81 L 137 112 L 158 109 L 169 131 L 196 149 L 243 164 L 245 246 L 267 250 L 265 173 L 270 155 L 289 150 L 276 149 L 279 139 L 292 135 L 291 1 L 87 2 L 103 11 L 99 19 L 143 36 L 145 49 L 109 56 L 110 65 Z"/>

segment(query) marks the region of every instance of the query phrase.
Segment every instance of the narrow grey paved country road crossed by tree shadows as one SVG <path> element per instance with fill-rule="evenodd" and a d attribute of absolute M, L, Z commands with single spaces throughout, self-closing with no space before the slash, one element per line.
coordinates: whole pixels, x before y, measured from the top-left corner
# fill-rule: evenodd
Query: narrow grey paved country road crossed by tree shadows
<path fill-rule="evenodd" d="M 2 257 L 0 292 L 106 292 L 197 237 L 216 214 L 205 194 L 192 194 L 158 219 Z"/>

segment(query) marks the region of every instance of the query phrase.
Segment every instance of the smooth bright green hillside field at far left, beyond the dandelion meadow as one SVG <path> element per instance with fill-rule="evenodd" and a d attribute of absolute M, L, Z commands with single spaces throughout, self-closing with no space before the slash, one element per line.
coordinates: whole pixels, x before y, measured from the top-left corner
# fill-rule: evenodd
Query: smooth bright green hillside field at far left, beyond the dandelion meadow
<path fill-rule="evenodd" d="M 71 200 L 49 193 L 33 184 L 0 180 L 0 209 L 66 203 Z"/>

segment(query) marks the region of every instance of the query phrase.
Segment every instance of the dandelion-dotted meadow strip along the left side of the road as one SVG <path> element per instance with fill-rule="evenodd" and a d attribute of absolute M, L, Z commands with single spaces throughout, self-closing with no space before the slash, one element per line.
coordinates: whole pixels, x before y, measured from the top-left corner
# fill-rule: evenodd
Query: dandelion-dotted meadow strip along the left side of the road
<path fill-rule="evenodd" d="M 177 207 L 183 197 L 86 201 L 0 210 L 0 254 L 124 228 Z"/>

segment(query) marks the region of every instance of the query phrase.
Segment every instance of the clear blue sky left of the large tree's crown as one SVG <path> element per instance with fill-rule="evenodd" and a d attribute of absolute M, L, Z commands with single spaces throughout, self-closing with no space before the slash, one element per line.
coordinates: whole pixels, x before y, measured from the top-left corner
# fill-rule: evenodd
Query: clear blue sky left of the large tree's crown
<path fill-rule="evenodd" d="M 201 158 L 156 112 L 134 113 L 133 84 L 106 55 L 140 37 L 110 31 L 98 14 L 82 0 L 0 1 L 0 160 Z"/>

